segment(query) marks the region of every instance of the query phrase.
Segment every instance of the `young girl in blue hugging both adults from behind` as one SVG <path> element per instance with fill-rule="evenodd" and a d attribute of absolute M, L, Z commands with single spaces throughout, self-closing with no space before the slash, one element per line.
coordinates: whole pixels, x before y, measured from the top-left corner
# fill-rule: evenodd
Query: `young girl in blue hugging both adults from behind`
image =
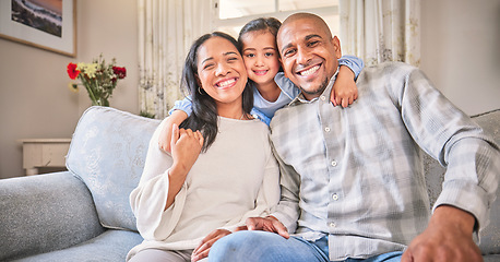
<path fill-rule="evenodd" d="M 282 23 L 274 17 L 260 17 L 247 23 L 240 31 L 238 43 L 247 68 L 249 84 L 253 87 L 253 118 L 267 126 L 274 112 L 288 105 L 299 93 L 285 78 L 279 62 L 276 35 Z M 347 107 L 357 98 L 355 79 L 364 68 L 361 59 L 344 56 L 338 60 L 340 71 L 330 100 L 334 106 Z M 170 152 L 171 127 L 180 124 L 191 115 L 191 98 L 176 102 L 159 135 L 159 146 Z"/>

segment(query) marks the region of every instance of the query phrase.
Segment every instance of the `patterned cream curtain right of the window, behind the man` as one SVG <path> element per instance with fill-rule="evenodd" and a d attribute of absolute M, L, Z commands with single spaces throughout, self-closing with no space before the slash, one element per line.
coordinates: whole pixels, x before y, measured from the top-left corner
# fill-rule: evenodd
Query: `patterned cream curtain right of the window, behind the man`
<path fill-rule="evenodd" d="M 343 53 L 420 64 L 419 0 L 340 0 L 340 15 Z"/>

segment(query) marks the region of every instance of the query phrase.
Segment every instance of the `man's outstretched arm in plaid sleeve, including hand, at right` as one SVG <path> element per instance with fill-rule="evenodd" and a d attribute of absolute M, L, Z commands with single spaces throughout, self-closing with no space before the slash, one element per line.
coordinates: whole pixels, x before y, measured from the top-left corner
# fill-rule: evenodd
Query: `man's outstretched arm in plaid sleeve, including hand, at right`
<path fill-rule="evenodd" d="M 498 145 L 421 71 L 413 70 L 404 88 L 392 91 L 415 142 L 447 167 L 429 225 L 410 242 L 402 261 L 480 261 L 473 234 L 488 224 L 500 171 Z"/>

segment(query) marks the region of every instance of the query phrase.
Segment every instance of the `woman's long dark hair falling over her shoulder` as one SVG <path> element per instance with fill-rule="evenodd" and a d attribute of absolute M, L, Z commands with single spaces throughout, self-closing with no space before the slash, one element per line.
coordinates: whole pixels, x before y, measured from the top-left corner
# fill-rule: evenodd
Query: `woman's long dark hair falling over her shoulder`
<path fill-rule="evenodd" d="M 238 41 L 236 41 L 233 36 L 222 32 L 214 32 L 198 38 L 191 46 L 186 58 L 182 69 L 181 88 L 191 95 L 192 114 L 180 124 L 180 128 L 191 129 L 193 131 L 200 130 L 202 132 L 204 138 L 203 152 L 212 145 L 215 141 L 215 136 L 217 136 L 218 114 L 215 99 L 206 94 L 200 86 L 201 82 L 198 79 L 198 50 L 206 40 L 213 37 L 225 38 L 230 41 L 238 51 L 240 50 Z M 243 111 L 247 114 L 250 114 L 253 107 L 253 92 L 248 83 L 242 93 L 242 107 Z"/>

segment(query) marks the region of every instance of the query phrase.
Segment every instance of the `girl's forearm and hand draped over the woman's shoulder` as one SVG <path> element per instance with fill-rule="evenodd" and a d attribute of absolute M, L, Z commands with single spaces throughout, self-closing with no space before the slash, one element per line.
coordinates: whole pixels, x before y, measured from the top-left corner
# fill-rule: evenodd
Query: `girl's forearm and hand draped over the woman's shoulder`
<path fill-rule="evenodd" d="M 175 124 L 180 126 L 192 112 L 191 97 L 186 97 L 182 100 L 177 100 L 174 108 L 168 111 L 170 115 L 166 118 L 164 128 L 159 132 L 158 145 L 164 152 L 170 153 L 171 128 Z"/>

